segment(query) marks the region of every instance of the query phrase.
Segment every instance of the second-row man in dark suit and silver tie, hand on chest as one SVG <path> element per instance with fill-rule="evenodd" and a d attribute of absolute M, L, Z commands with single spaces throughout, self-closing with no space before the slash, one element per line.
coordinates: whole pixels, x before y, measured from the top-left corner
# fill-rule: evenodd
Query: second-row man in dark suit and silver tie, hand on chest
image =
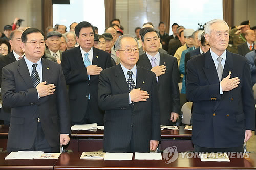
<path fill-rule="evenodd" d="M 177 59 L 159 52 L 159 34 L 148 28 L 142 33 L 146 53 L 139 56 L 138 66 L 151 70 L 157 77 L 161 125 L 173 125 L 180 114 L 179 70 Z M 153 61 L 154 59 L 154 61 Z"/>

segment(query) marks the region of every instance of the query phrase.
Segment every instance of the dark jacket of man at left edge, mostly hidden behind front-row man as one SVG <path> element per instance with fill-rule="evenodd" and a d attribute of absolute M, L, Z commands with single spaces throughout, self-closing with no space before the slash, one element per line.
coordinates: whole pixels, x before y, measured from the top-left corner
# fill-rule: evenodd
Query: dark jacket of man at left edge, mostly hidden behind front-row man
<path fill-rule="evenodd" d="M 2 83 L 2 69 L 4 66 L 11 64 L 12 62 L 17 61 L 14 57 L 13 51 L 5 56 L 0 57 L 0 88 Z M 0 119 L 10 122 L 11 118 L 11 108 L 5 107 L 2 105 L 0 111 Z"/>

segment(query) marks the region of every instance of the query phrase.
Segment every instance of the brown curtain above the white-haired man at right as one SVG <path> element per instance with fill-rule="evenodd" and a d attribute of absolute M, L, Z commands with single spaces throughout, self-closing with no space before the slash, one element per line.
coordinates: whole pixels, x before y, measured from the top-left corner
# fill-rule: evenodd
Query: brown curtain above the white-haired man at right
<path fill-rule="evenodd" d="M 234 0 L 223 0 L 223 20 L 226 21 L 229 27 L 234 25 Z"/>

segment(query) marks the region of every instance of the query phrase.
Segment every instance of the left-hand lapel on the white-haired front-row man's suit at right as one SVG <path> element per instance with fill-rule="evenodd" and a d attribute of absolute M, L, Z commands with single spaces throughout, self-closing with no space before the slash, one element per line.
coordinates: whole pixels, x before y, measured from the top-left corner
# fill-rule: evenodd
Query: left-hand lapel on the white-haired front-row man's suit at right
<path fill-rule="evenodd" d="M 214 65 L 214 61 L 212 60 L 210 51 L 205 53 L 205 62 L 203 70 L 209 84 L 219 83 L 219 77 Z"/>

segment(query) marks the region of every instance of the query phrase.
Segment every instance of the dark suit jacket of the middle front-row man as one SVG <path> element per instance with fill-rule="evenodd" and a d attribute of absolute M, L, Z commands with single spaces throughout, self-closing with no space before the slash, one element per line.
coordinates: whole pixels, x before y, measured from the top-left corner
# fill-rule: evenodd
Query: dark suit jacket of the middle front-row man
<path fill-rule="evenodd" d="M 129 147 L 131 138 L 136 152 L 149 152 L 150 140 L 160 140 L 156 76 L 137 66 L 136 78 L 136 88 L 147 91 L 150 98 L 129 105 L 129 89 L 121 65 L 100 73 L 99 106 L 105 110 L 106 152 L 129 152 L 124 148 Z"/>

